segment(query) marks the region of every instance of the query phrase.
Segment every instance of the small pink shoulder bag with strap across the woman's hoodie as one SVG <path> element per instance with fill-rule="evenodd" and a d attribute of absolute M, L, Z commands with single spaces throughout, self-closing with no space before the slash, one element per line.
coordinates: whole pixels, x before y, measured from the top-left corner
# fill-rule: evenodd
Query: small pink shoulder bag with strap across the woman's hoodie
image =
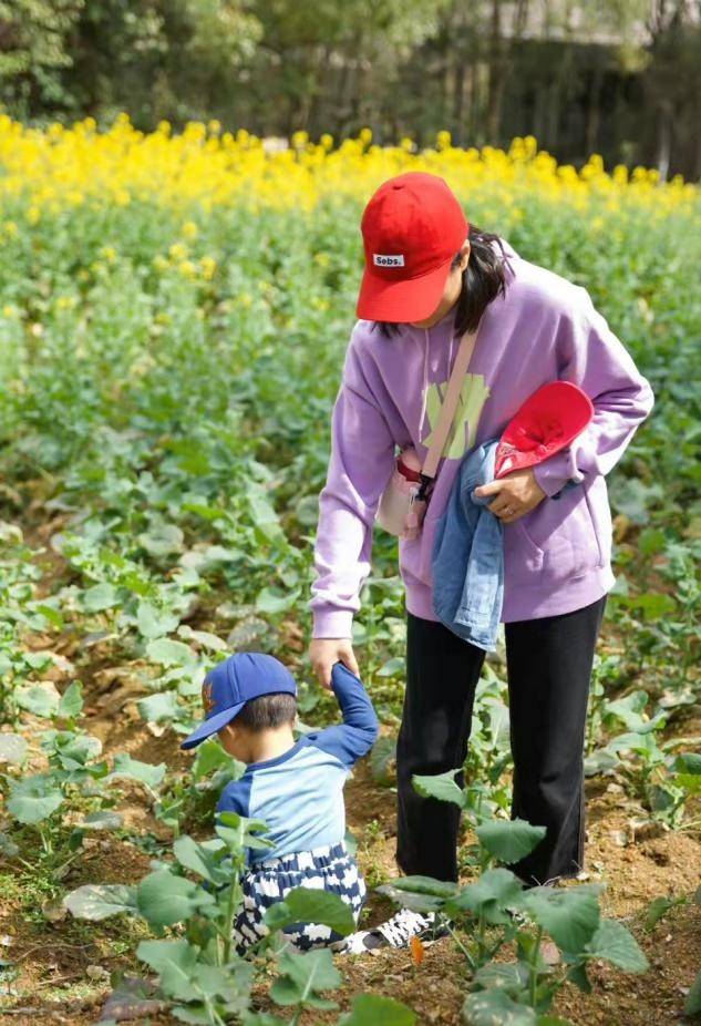
<path fill-rule="evenodd" d="M 396 537 L 411 540 L 419 536 L 476 338 L 477 334 L 473 332 L 464 335 L 461 340 L 423 466 L 414 447 L 408 445 L 396 458 L 392 476 L 382 493 L 377 520 L 381 527 Z"/>

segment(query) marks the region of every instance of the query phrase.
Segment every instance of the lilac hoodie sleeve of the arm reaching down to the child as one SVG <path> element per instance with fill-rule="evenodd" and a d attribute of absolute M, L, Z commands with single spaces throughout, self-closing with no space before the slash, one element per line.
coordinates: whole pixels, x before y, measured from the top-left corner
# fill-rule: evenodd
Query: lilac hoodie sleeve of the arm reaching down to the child
<path fill-rule="evenodd" d="M 312 636 L 349 638 L 370 573 L 372 525 L 394 465 L 394 441 L 351 338 L 331 419 L 331 459 L 319 496 Z"/>

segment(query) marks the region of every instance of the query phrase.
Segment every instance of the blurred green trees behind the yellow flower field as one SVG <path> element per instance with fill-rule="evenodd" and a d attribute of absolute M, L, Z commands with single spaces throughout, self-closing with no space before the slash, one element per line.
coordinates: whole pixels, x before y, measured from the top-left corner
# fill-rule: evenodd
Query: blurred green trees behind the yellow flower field
<path fill-rule="evenodd" d="M 701 25 L 688 0 L 0 0 L 0 105 L 127 111 L 419 145 L 536 135 L 561 161 L 701 174 Z"/>

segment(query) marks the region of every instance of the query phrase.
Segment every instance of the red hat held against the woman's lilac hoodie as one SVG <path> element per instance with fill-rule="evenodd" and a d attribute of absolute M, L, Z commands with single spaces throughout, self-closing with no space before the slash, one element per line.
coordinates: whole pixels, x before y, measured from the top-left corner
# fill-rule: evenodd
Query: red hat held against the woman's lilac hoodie
<path fill-rule="evenodd" d="M 594 406 L 569 381 L 551 381 L 529 396 L 506 425 L 496 450 L 496 479 L 535 466 L 569 445 L 594 417 Z"/>

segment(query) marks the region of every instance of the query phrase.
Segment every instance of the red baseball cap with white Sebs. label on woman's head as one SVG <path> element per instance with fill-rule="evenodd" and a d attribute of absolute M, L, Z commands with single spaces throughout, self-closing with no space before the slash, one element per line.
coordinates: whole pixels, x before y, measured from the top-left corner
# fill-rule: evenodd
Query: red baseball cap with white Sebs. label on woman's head
<path fill-rule="evenodd" d="M 357 314 L 406 324 L 431 317 L 470 225 L 446 182 L 411 171 L 390 178 L 364 209 L 365 271 Z"/>

